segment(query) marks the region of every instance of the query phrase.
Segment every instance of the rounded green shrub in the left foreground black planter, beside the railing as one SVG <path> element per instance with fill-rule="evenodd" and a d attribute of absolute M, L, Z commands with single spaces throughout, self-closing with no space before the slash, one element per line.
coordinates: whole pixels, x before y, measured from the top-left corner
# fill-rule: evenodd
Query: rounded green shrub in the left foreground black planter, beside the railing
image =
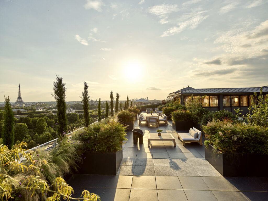
<path fill-rule="evenodd" d="M 125 128 L 116 118 L 108 118 L 88 126 L 84 134 L 75 134 L 74 139 L 83 142 L 85 151 L 114 153 L 121 150 L 123 141 L 127 140 Z"/>

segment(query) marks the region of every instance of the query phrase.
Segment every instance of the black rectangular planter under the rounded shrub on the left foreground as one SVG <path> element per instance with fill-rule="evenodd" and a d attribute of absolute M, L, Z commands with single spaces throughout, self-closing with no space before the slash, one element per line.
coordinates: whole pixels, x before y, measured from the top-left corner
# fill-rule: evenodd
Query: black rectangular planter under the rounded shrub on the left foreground
<path fill-rule="evenodd" d="M 80 164 L 78 174 L 113 174 L 119 169 L 123 151 L 116 153 L 84 153 L 83 164 Z"/>

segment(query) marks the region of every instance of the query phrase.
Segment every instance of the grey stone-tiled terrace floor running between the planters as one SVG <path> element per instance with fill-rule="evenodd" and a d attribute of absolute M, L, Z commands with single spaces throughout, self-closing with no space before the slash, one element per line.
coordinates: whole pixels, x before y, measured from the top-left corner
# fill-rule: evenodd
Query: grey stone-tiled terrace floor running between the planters
<path fill-rule="evenodd" d="M 178 140 L 177 132 L 168 125 L 158 128 L 138 125 L 145 133 L 143 144 L 133 144 L 132 132 L 123 146 L 123 160 L 117 175 L 79 175 L 68 180 L 75 197 L 83 189 L 96 193 L 102 201 L 136 200 L 268 200 L 267 177 L 222 177 L 204 159 L 204 145 Z M 172 141 L 153 141 L 147 146 L 148 133 L 172 133 Z"/>

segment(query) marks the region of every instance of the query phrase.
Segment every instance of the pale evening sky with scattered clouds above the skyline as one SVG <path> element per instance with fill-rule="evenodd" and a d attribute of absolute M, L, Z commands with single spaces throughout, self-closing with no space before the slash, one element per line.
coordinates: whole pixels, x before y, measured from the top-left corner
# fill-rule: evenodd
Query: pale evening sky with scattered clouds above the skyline
<path fill-rule="evenodd" d="M 267 0 L 1 0 L 0 102 L 268 85 Z"/>

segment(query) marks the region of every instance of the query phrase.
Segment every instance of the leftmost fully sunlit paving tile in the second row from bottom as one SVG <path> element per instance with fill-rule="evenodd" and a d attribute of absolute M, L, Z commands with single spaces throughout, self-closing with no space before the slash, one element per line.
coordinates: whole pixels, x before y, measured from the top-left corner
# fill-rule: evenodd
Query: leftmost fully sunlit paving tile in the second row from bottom
<path fill-rule="evenodd" d="M 131 188 L 156 189 L 155 176 L 133 176 Z"/>

